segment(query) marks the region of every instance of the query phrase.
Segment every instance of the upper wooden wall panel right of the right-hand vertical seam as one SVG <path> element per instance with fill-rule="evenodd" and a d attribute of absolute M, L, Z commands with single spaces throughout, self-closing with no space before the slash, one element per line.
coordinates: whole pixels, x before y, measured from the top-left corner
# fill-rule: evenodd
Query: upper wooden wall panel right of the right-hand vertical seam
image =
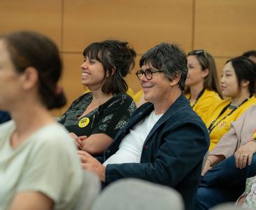
<path fill-rule="evenodd" d="M 215 56 L 256 49 L 255 0 L 196 0 L 194 48 Z"/>

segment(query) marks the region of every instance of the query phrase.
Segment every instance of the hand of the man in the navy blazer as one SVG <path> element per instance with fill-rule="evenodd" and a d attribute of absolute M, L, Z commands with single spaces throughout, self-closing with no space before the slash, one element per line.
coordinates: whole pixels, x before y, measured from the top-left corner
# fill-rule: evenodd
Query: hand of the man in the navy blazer
<path fill-rule="evenodd" d="M 105 167 L 85 151 L 78 151 L 78 155 L 81 160 L 82 168 L 88 172 L 93 172 L 100 177 L 102 182 L 105 182 Z"/>

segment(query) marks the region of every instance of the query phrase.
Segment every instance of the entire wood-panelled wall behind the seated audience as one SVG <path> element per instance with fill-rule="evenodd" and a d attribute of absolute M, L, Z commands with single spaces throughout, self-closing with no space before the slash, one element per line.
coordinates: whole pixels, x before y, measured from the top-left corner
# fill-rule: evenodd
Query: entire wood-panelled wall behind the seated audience
<path fill-rule="evenodd" d="M 60 81 L 68 104 L 83 93 L 83 49 L 107 38 L 128 41 L 137 52 L 135 69 L 126 78 L 134 92 L 138 61 L 163 41 L 188 52 L 205 49 L 217 63 L 256 49 L 255 0 L 0 0 L 0 33 L 33 30 L 58 44 L 64 62 Z"/>

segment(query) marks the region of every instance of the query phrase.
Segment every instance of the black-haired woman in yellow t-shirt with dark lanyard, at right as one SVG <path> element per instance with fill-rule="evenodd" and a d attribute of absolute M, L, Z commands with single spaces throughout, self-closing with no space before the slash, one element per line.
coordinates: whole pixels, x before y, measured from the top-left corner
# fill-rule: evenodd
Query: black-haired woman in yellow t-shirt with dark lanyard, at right
<path fill-rule="evenodd" d="M 211 151 L 220 138 L 250 106 L 256 104 L 256 65 L 246 57 L 229 59 L 222 71 L 220 86 L 223 97 L 229 97 L 206 113 L 206 126 L 210 134 Z"/>

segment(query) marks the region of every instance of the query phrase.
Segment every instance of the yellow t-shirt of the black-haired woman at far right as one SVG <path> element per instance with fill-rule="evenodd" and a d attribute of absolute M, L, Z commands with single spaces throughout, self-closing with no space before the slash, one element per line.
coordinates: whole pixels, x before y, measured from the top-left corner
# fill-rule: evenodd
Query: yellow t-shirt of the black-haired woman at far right
<path fill-rule="evenodd" d="M 230 100 L 224 100 L 220 104 L 217 104 L 217 106 L 213 106 L 212 109 L 210 109 L 205 116 L 206 119 L 206 126 L 209 127 L 210 124 L 215 120 L 221 111 L 224 109 L 225 106 L 227 106 L 230 103 Z M 209 151 L 211 151 L 218 141 L 220 141 L 220 138 L 229 131 L 230 129 L 230 123 L 232 121 L 235 121 L 237 118 L 239 118 L 250 106 L 253 106 L 256 104 L 256 98 L 251 97 L 247 102 L 242 104 L 238 107 L 233 113 L 231 113 L 230 116 L 227 116 L 232 110 L 227 109 L 222 115 L 217 118 L 216 122 L 213 124 L 215 126 L 210 132 L 210 148 Z M 224 116 L 227 116 L 227 118 L 224 118 Z M 222 120 L 222 118 L 224 118 Z M 219 123 L 220 122 L 220 123 Z"/>

